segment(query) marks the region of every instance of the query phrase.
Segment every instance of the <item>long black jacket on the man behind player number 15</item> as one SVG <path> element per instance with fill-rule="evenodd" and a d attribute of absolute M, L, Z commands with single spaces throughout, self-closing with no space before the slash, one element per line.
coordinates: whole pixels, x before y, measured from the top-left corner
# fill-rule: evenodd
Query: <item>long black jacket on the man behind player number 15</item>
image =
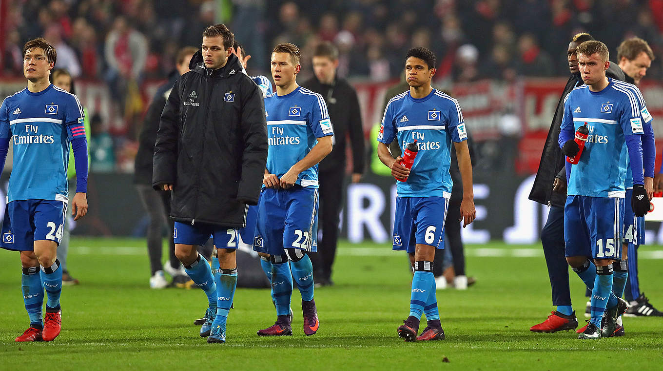
<path fill-rule="evenodd" d="M 621 81 L 624 80 L 624 72 L 614 62 L 610 62 L 610 67 L 606 74 L 608 77 L 616 78 Z M 529 198 L 532 201 L 540 202 L 548 206 L 564 207 L 566 194 L 552 191 L 552 184 L 555 177 L 560 174 L 560 171 L 564 171 L 565 160 L 564 155 L 562 154 L 562 149 L 560 149 L 560 145 L 558 144 L 558 138 L 560 137 L 562 117 L 564 116 L 564 98 L 568 96 L 573 88 L 581 86 L 582 84 L 584 84 L 584 82 L 579 74 L 572 74 L 568 82 L 566 82 L 564 92 L 562 92 L 560 101 L 557 104 L 557 109 L 555 110 L 555 115 L 552 118 L 552 124 L 548 131 L 546 144 L 544 145 L 539 168 L 536 172 L 536 178 L 534 179 L 534 185 L 530 192 Z M 563 179 L 566 182 L 566 176 L 560 179 Z"/>

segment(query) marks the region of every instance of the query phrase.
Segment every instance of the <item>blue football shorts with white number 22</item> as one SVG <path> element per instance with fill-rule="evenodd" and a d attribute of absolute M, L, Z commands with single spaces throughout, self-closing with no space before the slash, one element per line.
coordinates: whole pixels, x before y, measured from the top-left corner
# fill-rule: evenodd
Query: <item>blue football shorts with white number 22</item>
<path fill-rule="evenodd" d="M 294 185 L 288 189 L 263 188 L 253 250 L 271 255 L 284 248 L 317 251 L 318 189 Z"/>

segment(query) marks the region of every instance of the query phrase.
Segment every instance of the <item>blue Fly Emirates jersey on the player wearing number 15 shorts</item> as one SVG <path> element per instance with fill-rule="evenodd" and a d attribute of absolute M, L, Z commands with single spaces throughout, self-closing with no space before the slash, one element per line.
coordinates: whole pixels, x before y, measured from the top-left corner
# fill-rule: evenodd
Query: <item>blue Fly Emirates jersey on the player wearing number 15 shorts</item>
<path fill-rule="evenodd" d="M 562 130 L 587 123 L 589 137 L 579 163 L 572 165 L 568 194 L 591 197 L 624 197 L 629 161 L 625 135 L 642 135 L 642 113 L 635 86 L 609 79 L 601 92 L 583 85 L 564 101 Z M 625 85 L 629 85 L 626 88 Z M 631 169 L 628 169 L 631 171 Z"/>

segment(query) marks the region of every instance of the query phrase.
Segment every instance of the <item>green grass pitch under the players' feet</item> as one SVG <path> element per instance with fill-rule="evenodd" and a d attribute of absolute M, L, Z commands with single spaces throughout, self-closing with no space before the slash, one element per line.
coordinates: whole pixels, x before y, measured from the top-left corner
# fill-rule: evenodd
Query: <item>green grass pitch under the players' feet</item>
<path fill-rule="evenodd" d="M 640 283 L 663 307 L 660 246 L 640 249 Z M 316 289 L 320 330 L 304 336 L 293 294 L 294 336 L 262 338 L 275 319 L 267 289 L 238 289 L 227 342 L 207 344 L 193 320 L 198 289 L 149 289 L 145 240 L 74 238 L 69 268 L 81 285 L 62 290 L 62 333 L 53 342 L 15 343 L 27 328 L 21 264 L 0 251 L 0 370 L 576 370 L 594 365 L 644 370 L 663 364 L 663 318 L 625 318 L 626 336 L 578 340 L 531 333 L 552 310 L 540 246 L 467 246 L 467 291 L 438 291 L 446 340 L 406 343 L 396 327 L 408 315 L 410 273 L 388 244 L 339 246 L 333 279 Z M 658 258 L 658 259 L 657 259 Z M 241 274 L 241 267 L 239 267 Z M 584 289 L 570 272 L 584 325 Z M 422 324 L 422 328 L 424 325 Z M 590 366 L 591 365 L 591 366 Z"/>

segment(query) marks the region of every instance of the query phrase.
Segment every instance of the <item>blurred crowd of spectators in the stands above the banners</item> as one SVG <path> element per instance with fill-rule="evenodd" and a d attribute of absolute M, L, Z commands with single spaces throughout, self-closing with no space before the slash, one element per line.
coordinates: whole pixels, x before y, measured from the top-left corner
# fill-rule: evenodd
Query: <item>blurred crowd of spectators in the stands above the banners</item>
<path fill-rule="evenodd" d="M 434 83 L 483 78 L 567 76 L 572 35 L 590 32 L 616 60 L 617 46 L 641 37 L 656 60 L 648 80 L 663 78 L 663 0 L 9 0 L 0 30 L 3 78 L 22 75 L 21 48 L 43 36 L 58 68 L 103 81 L 125 121 L 147 106 L 135 99 L 146 80 L 165 79 L 181 46 L 198 46 L 202 30 L 225 23 L 251 54 L 251 74 L 269 76 L 274 44 L 310 53 L 328 40 L 340 50 L 338 75 L 385 82 L 402 72 L 411 46 L 438 56 Z M 129 135 L 131 133 L 123 133 Z"/>

